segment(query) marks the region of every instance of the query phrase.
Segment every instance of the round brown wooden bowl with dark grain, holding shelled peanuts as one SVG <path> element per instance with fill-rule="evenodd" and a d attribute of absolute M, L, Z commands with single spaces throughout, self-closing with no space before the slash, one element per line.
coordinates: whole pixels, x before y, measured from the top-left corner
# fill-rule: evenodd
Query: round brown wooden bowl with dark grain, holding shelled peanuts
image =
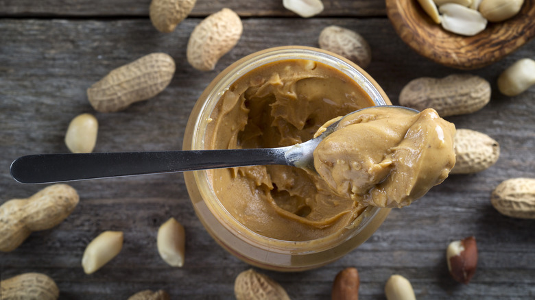
<path fill-rule="evenodd" d="M 417 0 L 386 0 L 386 12 L 407 45 L 420 55 L 453 68 L 482 68 L 535 36 L 535 0 L 525 0 L 519 14 L 503 22 L 489 22 L 475 36 L 460 36 L 442 29 Z"/>

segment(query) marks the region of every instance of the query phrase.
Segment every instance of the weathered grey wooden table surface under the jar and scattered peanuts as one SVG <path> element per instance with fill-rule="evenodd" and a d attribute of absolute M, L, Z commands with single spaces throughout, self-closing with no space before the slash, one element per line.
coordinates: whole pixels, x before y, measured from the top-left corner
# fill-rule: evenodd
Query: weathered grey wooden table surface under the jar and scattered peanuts
<path fill-rule="evenodd" d="M 418 299 L 534 299 L 535 221 L 509 218 L 490 204 L 490 192 L 511 177 L 535 177 L 535 87 L 501 95 L 496 79 L 520 58 L 535 58 L 535 41 L 475 71 L 458 71 L 420 57 L 396 35 L 379 0 L 324 0 L 319 16 L 299 18 L 282 1 L 198 0 L 170 34 L 152 27 L 149 0 L 0 1 L 0 203 L 29 197 L 46 185 L 14 182 L 12 160 L 32 153 L 65 153 L 71 119 L 91 112 L 99 121 L 95 151 L 180 149 L 185 124 L 202 90 L 226 66 L 254 51 L 281 45 L 318 47 L 327 25 L 359 32 L 372 48 L 366 69 L 393 103 L 411 79 L 473 73 L 492 85 L 492 99 L 474 114 L 447 118 L 501 145 L 497 164 L 473 175 L 451 175 L 423 199 L 392 210 L 377 233 L 344 258 L 302 273 L 261 271 L 292 299 L 329 299 L 336 273 L 359 269 L 361 299 L 385 299 L 392 274 L 412 282 Z M 187 40 L 202 18 L 228 7 L 240 14 L 243 36 L 214 71 L 196 71 Z M 171 84 L 150 101 L 111 114 L 95 112 L 86 88 L 113 68 L 162 51 L 176 61 Z M 226 253 L 193 212 L 182 174 L 72 182 L 80 203 L 53 229 L 34 232 L 15 251 L 0 253 L 0 276 L 26 272 L 52 277 L 60 299 L 127 299 L 139 290 L 166 290 L 171 299 L 233 299 L 238 273 L 250 266 Z M 156 251 L 156 232 L 174 216 L 187 233 L 186 262 L 171 268 Z M 92 275 L 80 265 L 88 242 L 105 230 L 124 232 L 119 255 Z M 452 240 L 475 236 L 479 264 L 468 285 L 449 277 Z"/>

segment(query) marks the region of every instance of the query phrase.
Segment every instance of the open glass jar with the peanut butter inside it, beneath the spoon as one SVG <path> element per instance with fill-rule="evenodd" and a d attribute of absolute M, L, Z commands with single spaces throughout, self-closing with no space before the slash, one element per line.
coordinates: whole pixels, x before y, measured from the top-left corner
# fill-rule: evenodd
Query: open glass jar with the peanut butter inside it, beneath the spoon
<path fill-rule="evenodd" d="M 390 105 L 359 66 L 311 47 L 277 47 L 228 66 L 204 90 L 184 150 L 284 147 L 326 121 Z M 198 218 L 237 258 L 275 271 L 304 271 L 361 245 L 390 209 L 335 195 L 315 173 L 247 166 L 184 173 Z"/>

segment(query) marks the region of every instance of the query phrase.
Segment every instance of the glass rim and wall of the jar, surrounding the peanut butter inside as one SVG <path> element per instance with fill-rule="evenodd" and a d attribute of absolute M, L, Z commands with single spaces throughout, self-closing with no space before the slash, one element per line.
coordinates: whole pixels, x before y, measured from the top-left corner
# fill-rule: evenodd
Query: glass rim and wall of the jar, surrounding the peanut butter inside
<path fill-rule="evenodd" d="M 280 60 L 304 59 L 337 68 L 355 80 L 375 105 L 391 105 L 377 82 L 359 66 L 329 51 L 312 47 L 288 46 L 265 49 L 231 64 L 204 90 L 189 116 L 184 150 L 202 150 L 206 127 L 219 97 L 239 77 L 254 68 Z M 305 271 L 329 264 L 366 241 L 383 223 L 390 209 L 368 207 L 344 232 L 316 240 L 289 241 L 261 236 L 239 223 L 218 201 L 209 171 L 185 172 L 185 182 L 193 208 L 211 236 L 237 258 L 275 271 Z"/>

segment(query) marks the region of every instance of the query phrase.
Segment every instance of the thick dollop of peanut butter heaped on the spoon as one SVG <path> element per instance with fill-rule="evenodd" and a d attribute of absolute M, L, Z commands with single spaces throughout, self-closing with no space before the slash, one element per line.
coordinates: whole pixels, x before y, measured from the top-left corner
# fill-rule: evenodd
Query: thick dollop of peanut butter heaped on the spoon
<path fill-rule="evenodd" d="M 448 177 L 454 134 L 432 109 L 368 108 L 342 118 L 316 147 L 314 166 L 337 195 L 401 208 Z"/>

